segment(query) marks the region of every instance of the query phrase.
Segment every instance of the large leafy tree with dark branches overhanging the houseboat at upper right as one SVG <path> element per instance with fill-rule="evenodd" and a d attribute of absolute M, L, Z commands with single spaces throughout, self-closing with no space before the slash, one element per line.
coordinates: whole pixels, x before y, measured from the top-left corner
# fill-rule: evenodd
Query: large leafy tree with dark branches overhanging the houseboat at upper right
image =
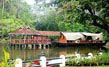
<path fill-rule="evenodd" d="M 109 4 L 107 0 L 61 0 L 57 2 L 62 8 L 63 22 L 79 22 L 104 29 L 109 34 Z"/>

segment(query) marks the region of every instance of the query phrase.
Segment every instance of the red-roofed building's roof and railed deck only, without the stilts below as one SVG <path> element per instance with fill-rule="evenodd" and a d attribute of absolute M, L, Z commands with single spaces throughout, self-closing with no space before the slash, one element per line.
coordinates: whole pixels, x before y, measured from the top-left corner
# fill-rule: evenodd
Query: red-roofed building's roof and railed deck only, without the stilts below
<path fill-rule="evenodd" d="M 60 32 L 31 30 L 29 26 L 20 27 L 10 33 L 10 44 L 51 44 L 48 36 L 59 36 Z"/>

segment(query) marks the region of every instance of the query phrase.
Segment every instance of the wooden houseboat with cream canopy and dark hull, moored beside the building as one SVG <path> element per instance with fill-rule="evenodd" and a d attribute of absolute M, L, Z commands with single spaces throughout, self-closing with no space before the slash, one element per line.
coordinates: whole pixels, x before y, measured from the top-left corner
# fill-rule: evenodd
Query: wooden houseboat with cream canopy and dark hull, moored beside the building
<path fill-rule="evenodd" d="M 58 43 L 60 45 L 96 45 L 104 46 L 102 33 L 61 32 Z"/>

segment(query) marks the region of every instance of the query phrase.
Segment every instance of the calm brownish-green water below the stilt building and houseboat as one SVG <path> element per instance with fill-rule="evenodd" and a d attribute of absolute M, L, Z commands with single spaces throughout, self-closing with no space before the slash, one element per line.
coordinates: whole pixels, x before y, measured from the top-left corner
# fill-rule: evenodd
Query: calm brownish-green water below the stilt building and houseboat
<path fill-rule="evenodd" d="M 6 48 L 6 47 L 5 47 Z M 106 46 L 107 49 L 109 49 L 109 43 Z M 79 47 L 65 47 L 65 48 L 49 48 L 49 49 L 35 49 L 35 50 L 26 50 L 26 49 L 8 49 L 11 58 L 22 58 L 23 60 L 27 59 L 37 59 L 40 57 L 41 52 L 46 53 L 46 57 L 58 57 L 61 54 L 64 55 L 72 55 L 75 54 L 76 50 L 79 50 L 81 54 L 86 55 L 87 53 L 91 52 L 93 54 L 97 54 L 100 50 L 100 48 L 97 47 L 85 47 L 85 46 L 79 46 Z M 0 56 L 3 55 L 2 48 L 0 48 Z"/>

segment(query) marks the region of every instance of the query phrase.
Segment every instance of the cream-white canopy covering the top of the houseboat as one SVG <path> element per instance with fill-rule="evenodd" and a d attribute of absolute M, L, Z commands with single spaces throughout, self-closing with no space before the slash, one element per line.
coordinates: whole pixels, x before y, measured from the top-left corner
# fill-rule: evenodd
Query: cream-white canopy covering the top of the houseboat
<path fill-rule="evenodd" d="M 86 32 L 62 32 L 66 40 L 86 40 L 87 37 L 91 37 L 92 40 L 102 40 L 102 33 L 86 33 Z"/>

